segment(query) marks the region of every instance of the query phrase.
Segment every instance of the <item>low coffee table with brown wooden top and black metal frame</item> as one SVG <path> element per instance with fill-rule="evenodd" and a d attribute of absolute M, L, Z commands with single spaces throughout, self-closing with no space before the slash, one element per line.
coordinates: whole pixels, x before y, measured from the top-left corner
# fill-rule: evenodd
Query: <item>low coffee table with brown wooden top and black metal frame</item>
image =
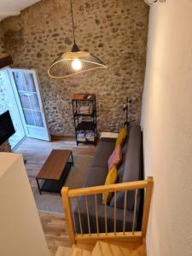
<path fill-rule="evenodd" d="M 71 150 L 53 149 L 36 176 L 39 193 L 41 194 L 42 191 L 61 193 L 71 166 L 73 166 Z M 43 180 L 43 184 L 40 184 L 39 180 Z"/>

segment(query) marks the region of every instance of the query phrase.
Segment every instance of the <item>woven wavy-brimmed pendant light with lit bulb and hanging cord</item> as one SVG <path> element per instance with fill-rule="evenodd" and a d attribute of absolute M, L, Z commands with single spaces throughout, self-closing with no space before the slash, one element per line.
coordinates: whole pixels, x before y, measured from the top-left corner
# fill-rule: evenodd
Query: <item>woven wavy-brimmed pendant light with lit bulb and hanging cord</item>
<path fill-rule="evenodd" d="M 81 51 L 75 41 L 73 6 L 71 4 L 71 15 L 73 25 L 73 48 L 56 59 L 48 69 L 48 74 L 54 79 L 64 79 L 78 73 L 84 73 L 96 68 L 107 67 L 95 55 L 91 55 L 87 51 Z"/>

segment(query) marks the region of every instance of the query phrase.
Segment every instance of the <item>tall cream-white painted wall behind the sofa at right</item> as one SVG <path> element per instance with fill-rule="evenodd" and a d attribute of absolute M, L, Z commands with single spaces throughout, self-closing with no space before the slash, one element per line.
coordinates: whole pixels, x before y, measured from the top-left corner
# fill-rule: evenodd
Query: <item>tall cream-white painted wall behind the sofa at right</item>
<path fill-rule="evenodd" d="M 154 177 L 148 256 L 191 256 L 191 0 L 150 10 L 142 126 L 145 175 Z"/>

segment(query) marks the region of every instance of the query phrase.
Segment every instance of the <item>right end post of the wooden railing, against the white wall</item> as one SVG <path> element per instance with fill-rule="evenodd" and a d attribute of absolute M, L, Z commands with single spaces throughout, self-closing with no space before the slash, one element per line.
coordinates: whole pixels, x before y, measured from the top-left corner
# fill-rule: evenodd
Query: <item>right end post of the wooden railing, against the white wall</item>
<path fill-rule="evenodd" d="M 152 196 L 152 190 L 154 185 L 154 179 L 153 177 L 148 177 L 147 181 L 148 181 L 148 185 L 146 187 L 146 193 L 144 197 L 144 207 L 143 207 L 143 222 L 142 222 L 143 239 L 146 238 L 147 229 L 148 229 L 148 216 L 149 216 L 149 210 L 150 210 L 150 204 L 151 204 L 151 196 Z"/>

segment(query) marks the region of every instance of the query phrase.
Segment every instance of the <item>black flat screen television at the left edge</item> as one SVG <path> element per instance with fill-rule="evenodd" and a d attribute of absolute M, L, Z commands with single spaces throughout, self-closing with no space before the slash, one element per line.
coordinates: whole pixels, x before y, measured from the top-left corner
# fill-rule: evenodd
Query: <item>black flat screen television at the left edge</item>
<path fill-rule="evenodd" d="M 0 115 L 0 145 L 15 133 L 9 110 Z"/>

